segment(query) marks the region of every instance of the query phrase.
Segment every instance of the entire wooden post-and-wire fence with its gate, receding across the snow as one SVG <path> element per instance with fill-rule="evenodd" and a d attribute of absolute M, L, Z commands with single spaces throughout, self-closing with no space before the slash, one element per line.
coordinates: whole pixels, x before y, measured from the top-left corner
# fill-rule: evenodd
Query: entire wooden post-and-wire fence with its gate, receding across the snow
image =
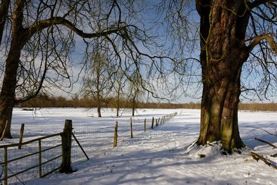
<path fill-rule="evenodd" d="M 66 121 L 64 132 L 0 146 L 0 183 L 28 184 L 30 179 L 45 177 L 57 170 L 70 172 L 73 170 L 71 166 L 105 155 L 107 150 L 120 145 L 125 139 L 154 129 L 176 115 L 177 112 L 143 120 L 131 118 L 129 127 L 121 126 L 120 122 L 96 128 L 91 123 L 72 124 Z"/>

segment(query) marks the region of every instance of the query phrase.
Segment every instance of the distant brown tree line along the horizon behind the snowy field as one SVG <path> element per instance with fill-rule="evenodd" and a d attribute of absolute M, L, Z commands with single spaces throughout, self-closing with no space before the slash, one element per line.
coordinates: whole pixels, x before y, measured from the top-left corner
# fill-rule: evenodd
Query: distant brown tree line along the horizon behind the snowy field
<path fill-rule="evenodd" d="M 118 104 L 117 97 L 109 97 L 104 101 L 102 107 L 116 108 Z M 119 99 L 120 108 L 132 109 L 132 100 Z M 63 96 L 48 96 L 40 95 L 37 98 L 30 99 L 24 103 L 19 104 L 19 107 L 84 107 L 91 108 L 97 107 L 97 100 L 88 98 L 86 96 L 78 98 L 74 95 L 71 98 L 65 98 Z M 200 109 L 200 103 L 145 103 L 139 101 L 136 103 L 136 107 L 139 109 Z M 249 111 L 277 111 L 277 103 L 240 103 L 240 110 Z"/>

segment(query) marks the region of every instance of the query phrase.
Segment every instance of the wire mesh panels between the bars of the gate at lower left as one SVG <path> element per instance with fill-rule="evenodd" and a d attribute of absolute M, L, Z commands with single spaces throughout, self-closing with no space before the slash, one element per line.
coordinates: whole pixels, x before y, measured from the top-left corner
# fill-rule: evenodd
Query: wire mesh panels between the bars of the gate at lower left
<path fill-rule="evenodd" d="M 54 157 L 57 157 L 62 154 L 62 147 L 53 148 L 61 143 L 61 137 L 55 136 L 48 139 L 43 139 L 41 142 L 42 146 L 42 175 L 47 174 L 51 170 L 60 167 L 61 157 L 49 161 Z M 48 148 L 52 148 L 48 150 Z M 39 141 L 33 143 L 28 143 L 24 146 L 21 146 L 21 149 L 18 149 L 18 146 L 8 147 L 8 177 L 10 175 L 15 175 L 14 177 L 8 178 L 8 184 L 28 184 L 28 180 L 39 177 Z M 0 158 L 0 179 L 3 179 L 4 173 L 4 149 L 0 149 L 1 158 Z M 32 155 L 34 154 L 34 155 Z M 23 156 L 30 155 L 28 157 L 21 158 Z M 18 159 L 17 159 L 18 158 Z M 20 159 L 21 158 L 21 159 Z M 12 159 L 17 159 L 10 161 Z M 49 161 L 49 162 L 46 162 Z M 36 167 L 35 167 L 36 166 Z M 34 167 L 34 168 L 33 168 Z M 29 170 L 26 170 L 29 169 Z M 16 175 L 19 172 L 22 172 Z M 0 184 L 4 184 L 3 180 L 0 181 Z"/>

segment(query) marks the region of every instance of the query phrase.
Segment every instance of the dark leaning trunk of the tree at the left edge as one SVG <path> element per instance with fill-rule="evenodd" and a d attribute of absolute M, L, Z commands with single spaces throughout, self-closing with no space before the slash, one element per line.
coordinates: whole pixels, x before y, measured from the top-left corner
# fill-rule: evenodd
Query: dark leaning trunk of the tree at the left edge
<path fill-rule="evenodd" d="M 10 2 L 8 2 L 10 3 Z M 4 133 L 6 138 L 11 138 L 10 125 L 12 120 L 12 109 L 15 105 L 15 88 L 17 86 L 17 69 L 21 49 L 26 43 L 26 30 L 22 27 L 23 10 L 25 1 L 17 1 L 12 13 L 12 33 L 10 51 L 6 59 L 5 75 L 3 77 L 0 93 L 0 134 L 8 121 L 8 128 Z"/>

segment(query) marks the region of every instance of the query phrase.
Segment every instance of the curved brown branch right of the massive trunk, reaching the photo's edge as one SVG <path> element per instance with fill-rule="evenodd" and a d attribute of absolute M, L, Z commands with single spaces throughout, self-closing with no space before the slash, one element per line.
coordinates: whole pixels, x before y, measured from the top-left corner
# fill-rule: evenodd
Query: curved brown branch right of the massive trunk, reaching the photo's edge
<path fill-rule="evenodd" d="M 274 42 L 274 39 L 273 37 L 271 36 L 271 34 L 262 34 L 262 35 L 258 35 L 256 36 L 252 42 L 249 44 L 248 46 L 248 51 L 252 51 L 254 49 L 254 47 L 258 44 L 260 44 L 260 42 L 263 40 L 263 39 L 266 39 L 269 46 L 271 47 L 271 49 L 276 53 L 277 55 L 277 44 L 276 42 Z"/>

